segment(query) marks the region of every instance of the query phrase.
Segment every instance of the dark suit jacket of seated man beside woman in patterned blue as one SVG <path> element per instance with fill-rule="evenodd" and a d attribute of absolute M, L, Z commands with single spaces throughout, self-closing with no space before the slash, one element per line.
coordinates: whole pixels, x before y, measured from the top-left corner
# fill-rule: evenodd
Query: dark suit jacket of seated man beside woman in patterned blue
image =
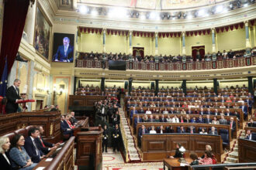
<path fill-rule="evenodd" d="M 36 144 L 36 140 L 35 140 L 35 144 Z M 38 150 L 40 152 L 38 155 L 36 155 L 36 147 L 38 148 Z M 31 161 L 34 163 L 40 162 L 40 156 L 43 155 L 43 152 L 40 151 L 40 147 L 37 144 L 36 144 L 36 147 L 33 145 L 33 141 L 30 138 L 30 136 L 26 137 L 24 148 L 26 149 L 26 152 L 28 153 L 29 157 L 31 158 Z"/>

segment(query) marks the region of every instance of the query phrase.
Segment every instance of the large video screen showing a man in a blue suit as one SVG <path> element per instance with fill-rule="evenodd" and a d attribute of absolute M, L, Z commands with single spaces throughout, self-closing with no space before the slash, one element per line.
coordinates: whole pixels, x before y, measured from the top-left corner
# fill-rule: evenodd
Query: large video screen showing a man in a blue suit
<path fill-rule="evenodd" d="M 73 63 L 74 34 L 54 33 L 53 62 Z"/>

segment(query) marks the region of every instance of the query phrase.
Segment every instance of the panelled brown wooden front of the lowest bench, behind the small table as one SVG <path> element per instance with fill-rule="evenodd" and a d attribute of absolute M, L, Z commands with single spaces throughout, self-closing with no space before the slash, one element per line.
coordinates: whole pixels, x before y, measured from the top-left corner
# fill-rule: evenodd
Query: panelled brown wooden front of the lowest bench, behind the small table
<path fill-rule="evenodd" d="M 210 145 L 217 162 L 221 162 L 222 139 L 219 135 L 207 134 L 144 134 L 141 138 L 143 161 L 161 161 L 175 155 L 177 143 L 186 149 L 185 158 L 189 158 L 191 152 L 203 155 L 206 145 Z"/>

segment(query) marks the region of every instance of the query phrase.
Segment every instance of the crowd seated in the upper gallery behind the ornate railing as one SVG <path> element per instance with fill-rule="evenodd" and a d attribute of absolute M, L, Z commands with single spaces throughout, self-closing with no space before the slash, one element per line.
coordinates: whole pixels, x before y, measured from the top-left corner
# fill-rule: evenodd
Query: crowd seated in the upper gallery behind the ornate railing
<path fill-rule="evenodd" d="M 223 50 L 223 53 L 218 51 L 216 53 L 216 59 L 235 59 L 239 57 L 247 57 L 247 56 L 256 56 L 255 49 L 251 50 L 251 54 L 247 55 L 245 50 L 240 51 L 233 51 L 230 49 L 229 52 L 226 52 L 226 50 Z M 159 63 L 175 63 L 175 62 L 182 62 L 182 56 L 181 55 L 159 55 L 158 57 Z M 95 61 L 107 61 L 107 60 L 119 60 L 119 61 L 130 61 L 133 62 L 150 62 L 154 63 L 156 62 L 156 58 L 152 55 L 148 56 L 130 56 L 126 53 L 105 53 L 105 56 L 103 53 L 80 53 L 78 56 L 78 59 L 87 59 L 87 60 L 95 60 Z M 186 62 L 192 62 L 192 61 L 211 61 L 213 60 L 213 54 L 207 53 L 205 56 L 196 55 L 196 58 L 193 59 L 192 56 L 186 56 Z"/>

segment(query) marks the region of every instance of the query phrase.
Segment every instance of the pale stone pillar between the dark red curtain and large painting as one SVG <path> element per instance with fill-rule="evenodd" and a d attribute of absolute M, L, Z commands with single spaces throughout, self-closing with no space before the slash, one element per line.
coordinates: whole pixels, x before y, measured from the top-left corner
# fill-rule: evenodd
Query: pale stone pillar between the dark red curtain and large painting
<path fill-rule="evenodd" d="M 35 21 L 36 21 L 36 2 L 34 5 L 29 5 L 29 10 L 26 15 L 26 24 L 24 27 L 24 32 L 27 35 L 27 42 L 33 45 L 34 42 L 34 32 L 35 32 Z"/>

